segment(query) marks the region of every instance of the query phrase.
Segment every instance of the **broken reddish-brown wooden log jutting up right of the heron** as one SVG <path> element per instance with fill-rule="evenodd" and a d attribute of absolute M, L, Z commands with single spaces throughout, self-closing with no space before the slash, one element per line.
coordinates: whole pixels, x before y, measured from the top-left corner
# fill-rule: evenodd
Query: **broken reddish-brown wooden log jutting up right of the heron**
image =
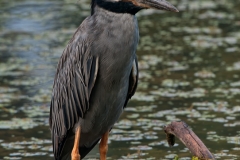
<path fill-rule="evenodd" d="M 191 151 L 191 153 L 200 159 L 215 159 L 212 153 L 207 149 L 198 136 L 189 129 L 183 121 L 172 122 L 164 127 L 169 146 L 175 143 L 175 136 Z"/>

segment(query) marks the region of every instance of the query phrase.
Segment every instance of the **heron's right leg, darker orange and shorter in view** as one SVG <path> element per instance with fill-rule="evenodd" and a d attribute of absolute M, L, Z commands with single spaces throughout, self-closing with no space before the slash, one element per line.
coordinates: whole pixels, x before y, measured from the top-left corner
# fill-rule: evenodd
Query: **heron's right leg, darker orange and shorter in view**
<path fill-rule="evenodd" d="M 100 160 L 106 160 L 107 157 L 107 151 L 108 151 L 108 134 L 109 131 L 104 133 L 102 136 L 101 142 L 99 144 L 99 152 L 100 152 Z"/>

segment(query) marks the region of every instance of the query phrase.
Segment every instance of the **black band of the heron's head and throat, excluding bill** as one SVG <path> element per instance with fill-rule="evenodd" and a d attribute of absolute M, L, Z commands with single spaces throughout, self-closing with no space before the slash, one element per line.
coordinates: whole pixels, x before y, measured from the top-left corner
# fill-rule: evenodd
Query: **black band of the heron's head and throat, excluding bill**
<path fill-rule="evenodd" d="M 133 5 L 130 2 L 122 2 L 122 1 L 110 2 L 110 1 L 105 1 L 105 0 L 92 0 L 92 5 L 91 5 L 91 14 L 92 15 L 94 14 L 96 6 L 101 7 L 110 12 L 129 13 L 132 15 L 135 15 L 138 11 L 143 9 L 143 8 Z"/>

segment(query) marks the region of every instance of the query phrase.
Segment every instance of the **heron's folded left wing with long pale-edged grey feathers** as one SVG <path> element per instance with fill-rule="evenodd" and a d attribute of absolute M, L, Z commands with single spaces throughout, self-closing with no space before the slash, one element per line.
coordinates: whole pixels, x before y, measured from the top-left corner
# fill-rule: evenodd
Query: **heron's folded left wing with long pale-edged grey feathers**
<path fill-rule="evenodd" d="M 68 130 L 89 109 L 89 98 L 98 72 L 98 57 L 91 55 L 90 43 L 70 41 L 59 60 L 54 79 L 49 124 L 53 150 L 59 157 Z"/>

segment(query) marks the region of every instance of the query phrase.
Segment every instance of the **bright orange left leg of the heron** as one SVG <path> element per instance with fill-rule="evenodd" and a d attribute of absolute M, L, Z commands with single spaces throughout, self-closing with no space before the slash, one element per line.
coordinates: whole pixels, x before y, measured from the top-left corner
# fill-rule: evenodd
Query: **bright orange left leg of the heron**
<path fill-rule="evenodd" d="M 81 128 L 80 126 L 77 128 L 75 132 L 75 139 L 74 139 L 74 145 L 72 149 L 72 160 L 80 160 L 80 154 L 79 154 L 79 141 L 80 141 L 80 134 L 81 134 Z"/>

